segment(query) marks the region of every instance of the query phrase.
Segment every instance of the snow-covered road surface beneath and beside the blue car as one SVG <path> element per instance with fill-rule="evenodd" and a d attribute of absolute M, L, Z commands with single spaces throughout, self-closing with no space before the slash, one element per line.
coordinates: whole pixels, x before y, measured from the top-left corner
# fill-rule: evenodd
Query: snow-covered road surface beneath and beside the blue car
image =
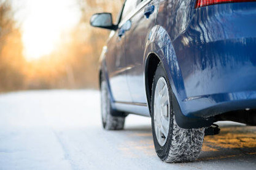
<path fill-rule="evenodd" d="M 0 169 L 255 169 L 256 128 L 221 125 L 198 161 L 168 164 L 155 153 L 150 118 L 103 130 L 98 91 L 1 94 Z"/>

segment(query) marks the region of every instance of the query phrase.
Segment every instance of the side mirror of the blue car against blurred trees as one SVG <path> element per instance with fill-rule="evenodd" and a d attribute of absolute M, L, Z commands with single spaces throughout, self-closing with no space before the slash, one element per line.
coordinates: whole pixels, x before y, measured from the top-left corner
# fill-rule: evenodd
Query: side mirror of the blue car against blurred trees
<path fill-rule="evenodd" d="M 111 13 L 95 13 L 90 20 L 93 27 L 116 30 L 117 26 L 113 24 Z"/>

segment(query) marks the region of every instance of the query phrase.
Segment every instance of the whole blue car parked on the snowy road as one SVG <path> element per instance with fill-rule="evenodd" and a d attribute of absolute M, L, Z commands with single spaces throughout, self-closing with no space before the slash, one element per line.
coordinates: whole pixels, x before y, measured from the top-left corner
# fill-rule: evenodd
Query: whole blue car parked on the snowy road
<path fill-rule="evenodd" d="M 101 113 L 106 130 L 132 114 L 152 117 L 158 157 L 198 158 L 214 122 L 256 125 L 256 2 L 126 0 L 100 57 Z"/>

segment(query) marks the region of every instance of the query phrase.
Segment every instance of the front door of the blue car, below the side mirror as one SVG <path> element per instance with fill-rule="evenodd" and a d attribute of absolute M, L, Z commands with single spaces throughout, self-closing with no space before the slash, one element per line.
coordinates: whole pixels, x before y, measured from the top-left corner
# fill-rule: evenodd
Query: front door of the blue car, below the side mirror
<path fill-rule="evenodd" d="M 118 22 L 122 20 L 122 16 L 123 12 L 120 12 Z M 122 37 L 119 35 L 122 29 L 122 26 L 120 26 L 117 31 L 112 31 L 109 35 L 106 66 L 109 75 L 109 84 L 115 102 L 132 102 L 126 79 L 125 36 Z"/>

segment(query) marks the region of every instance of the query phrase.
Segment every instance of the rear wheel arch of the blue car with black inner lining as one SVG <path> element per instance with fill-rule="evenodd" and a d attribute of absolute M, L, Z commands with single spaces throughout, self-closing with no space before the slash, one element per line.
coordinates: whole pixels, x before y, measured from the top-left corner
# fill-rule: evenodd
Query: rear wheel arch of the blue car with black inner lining
<path fill-rule="evenodd" d="M 157 65 L 161 62 L 165 68 L 168 81 L 173 91 L 173 102 L 176 105 L 175 111 L 176 122 L 182 128 L 201 128 L 208 127 L 214 121 L 213 119 L 186 117 L 182 113 L 185 108 L 183 98 L 187 96 L 185 92 L 184 79 L 179 67 L 178 59 L 174 50 L 171 38 L 168 32 L 161 26 L 155 26 L 150 32 L 149 40 L 146 43 L 144 53 L 144 81 L 145 93 L 147 96 L 147 105 L 150 109 L 152 96 L 153 76 L 157 69 Z"/>

